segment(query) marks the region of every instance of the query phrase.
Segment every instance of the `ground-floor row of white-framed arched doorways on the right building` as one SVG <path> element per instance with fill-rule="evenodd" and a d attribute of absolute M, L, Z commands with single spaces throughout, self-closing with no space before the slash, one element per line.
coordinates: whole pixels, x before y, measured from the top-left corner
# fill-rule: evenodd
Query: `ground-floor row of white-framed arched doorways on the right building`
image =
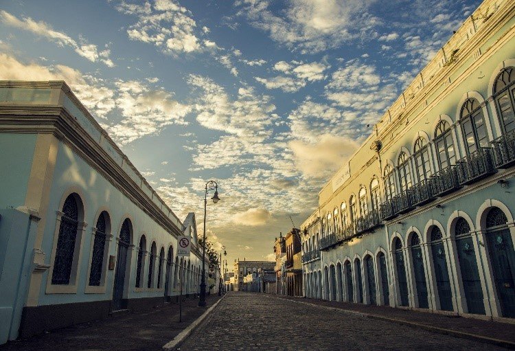
<path fill-rule="evenodd" d="M 410 227 L 404 238 L 394 233 L 388 249 L 306 272 L 306 295 L 515 317 L 515 224 L 503 203 L 483 203 L 475 226 L 457 211 L 447 228 L 431 220 L 422 233 Z"/>

